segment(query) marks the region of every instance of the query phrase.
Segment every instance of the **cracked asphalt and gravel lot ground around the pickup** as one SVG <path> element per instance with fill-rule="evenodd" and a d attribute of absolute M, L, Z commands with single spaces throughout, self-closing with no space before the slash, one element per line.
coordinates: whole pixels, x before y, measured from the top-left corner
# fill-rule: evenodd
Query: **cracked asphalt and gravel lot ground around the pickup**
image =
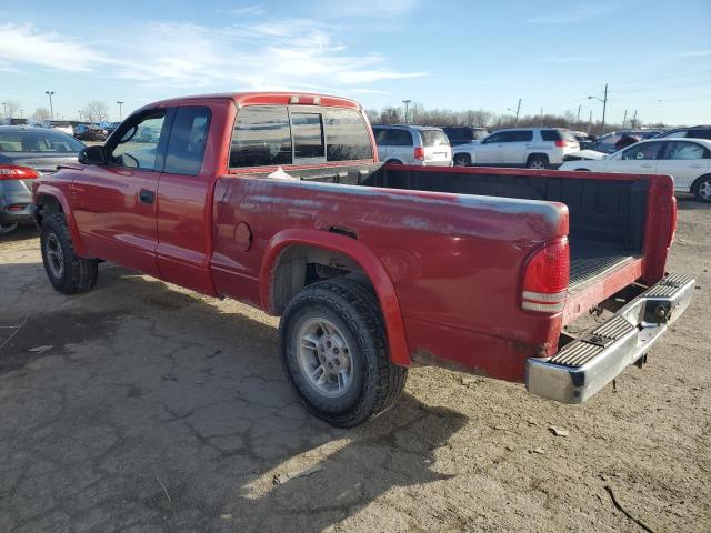
<path fill-rule="evenodd" d="M 710 228 L 680 201 L 669 266 L 698 290 L 617 391 L 415 369 L 351 431 L 296 400 L 276 319 L 111 264 L 63 296 L 23 229 L 0 242 L 0 531 L 711 531 Z"/>

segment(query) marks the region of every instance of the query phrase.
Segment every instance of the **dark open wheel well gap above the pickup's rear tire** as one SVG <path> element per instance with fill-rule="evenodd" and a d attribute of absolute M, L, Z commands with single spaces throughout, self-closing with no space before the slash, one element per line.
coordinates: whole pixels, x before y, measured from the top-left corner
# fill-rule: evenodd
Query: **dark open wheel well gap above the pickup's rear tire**
<path fill-rule="evenodd" d="M 344 253 L 311 245 L 291 245 L 281 252 L 273 270 L 271 308 L 276 314 L 281 314 L 304 286 L 344 275 L 358 276 L 370 283 L 360 265 Z"/>

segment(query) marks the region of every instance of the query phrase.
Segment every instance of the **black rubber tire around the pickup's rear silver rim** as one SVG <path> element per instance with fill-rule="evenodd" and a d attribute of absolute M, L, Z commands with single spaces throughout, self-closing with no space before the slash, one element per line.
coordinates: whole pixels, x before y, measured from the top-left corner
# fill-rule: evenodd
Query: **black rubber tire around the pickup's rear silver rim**
<path fill-rule="evenodd" d="M 353 346 L 352 381 L 336 398 L 312 384 L 299 360 L 300 330 L 313 320 L 330 322 L 347 345 Z M 408 369 L 390 362 L 378 299 L 369 285 L 354 278 L 314 283 L 297 294 L 279 324 L 279 352 L 291 386 L 309 411 L 338 428 L 352 428 L 378 416 L 404 389 Z"/>

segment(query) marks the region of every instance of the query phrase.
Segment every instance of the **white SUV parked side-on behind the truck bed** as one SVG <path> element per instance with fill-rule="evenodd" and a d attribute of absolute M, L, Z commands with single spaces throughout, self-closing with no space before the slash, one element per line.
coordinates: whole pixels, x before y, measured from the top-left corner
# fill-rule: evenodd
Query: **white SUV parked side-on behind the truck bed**
<path fill-rule="evenodd" d="M 580 144 L 569 130 L 514 128 L 454 147 L 454 164 L 549 169 L 559 167 L 565 154 L 578 150 Z"/>

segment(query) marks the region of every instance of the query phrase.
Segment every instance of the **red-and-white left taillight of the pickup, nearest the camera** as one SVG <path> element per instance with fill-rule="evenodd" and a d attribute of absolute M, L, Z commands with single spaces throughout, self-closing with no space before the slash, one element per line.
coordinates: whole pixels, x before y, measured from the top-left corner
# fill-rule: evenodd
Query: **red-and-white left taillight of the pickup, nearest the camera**
<path fill-rule="evenodd" d="M 570 280 L 568 239 L 549 242 L 525 265 L 521 306 L 539 313 L 558 313 L 565 306 Z"/>

